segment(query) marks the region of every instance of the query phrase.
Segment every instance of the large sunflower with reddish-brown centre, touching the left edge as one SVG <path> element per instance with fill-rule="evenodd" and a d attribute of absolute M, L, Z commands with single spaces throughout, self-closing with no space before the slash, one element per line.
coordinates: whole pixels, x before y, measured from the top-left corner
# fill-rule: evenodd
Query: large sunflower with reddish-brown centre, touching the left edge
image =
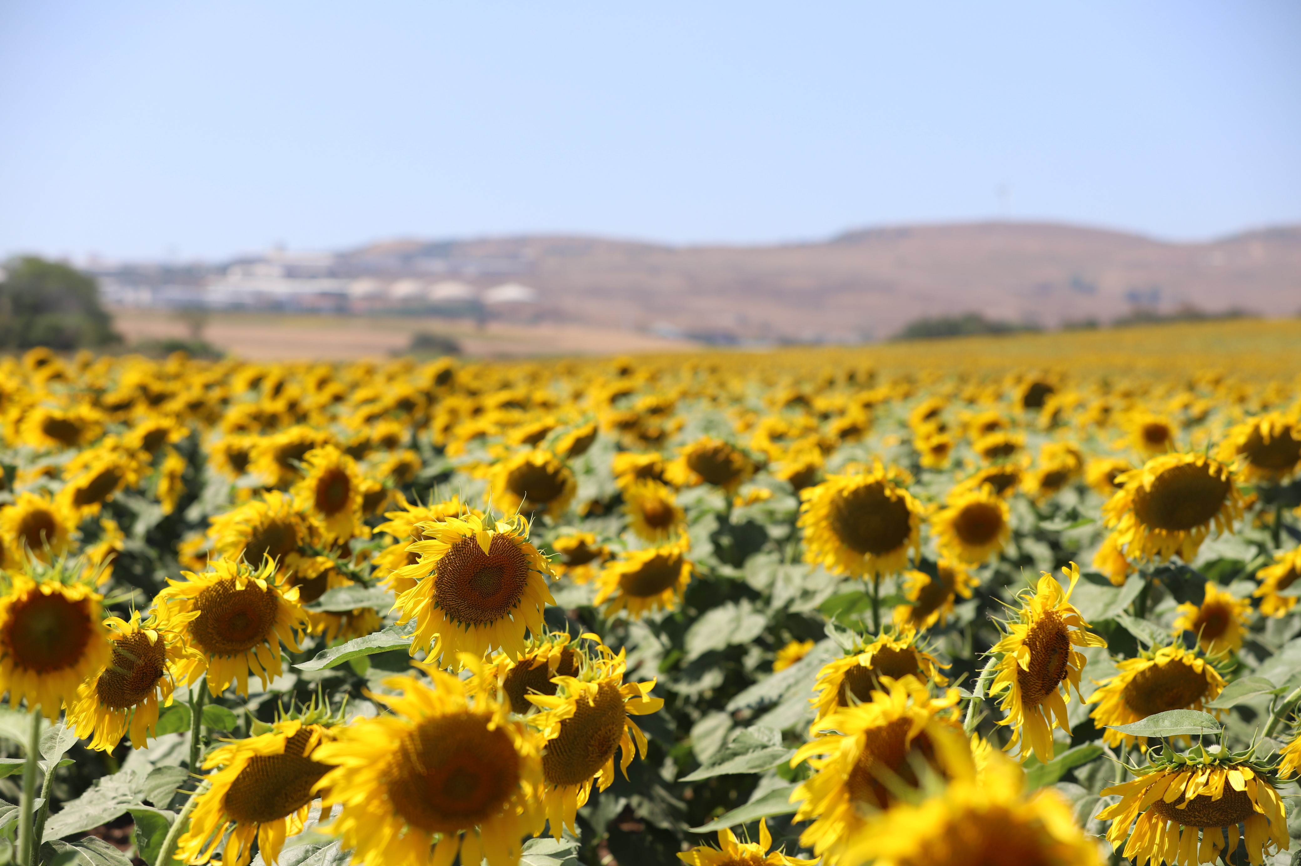
<path fill-rule="evenodd" d="M 0 695 L 9 693 L 14 710 L 40 707 L 59 718 L 77 686 L 109 659 L 108 632 L 101 622 L 101 595 L 79 581 L 64 582 L 61 564 L 33 576 L 10 573 L 0 596 Z"/>

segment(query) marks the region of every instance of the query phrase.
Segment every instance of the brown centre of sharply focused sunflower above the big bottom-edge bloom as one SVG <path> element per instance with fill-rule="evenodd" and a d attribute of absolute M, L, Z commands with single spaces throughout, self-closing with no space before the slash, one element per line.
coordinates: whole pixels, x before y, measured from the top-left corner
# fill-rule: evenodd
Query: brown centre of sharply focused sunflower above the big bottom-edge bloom
<path fill-rule="evenodd" d="M 528 557 L 506 535 L 493 535 L 484 553 L 475 538 L 462 538 L 438 560 L 435 604 L 453 622 L 487 625 L 505 617 L 524 594 Z"/>

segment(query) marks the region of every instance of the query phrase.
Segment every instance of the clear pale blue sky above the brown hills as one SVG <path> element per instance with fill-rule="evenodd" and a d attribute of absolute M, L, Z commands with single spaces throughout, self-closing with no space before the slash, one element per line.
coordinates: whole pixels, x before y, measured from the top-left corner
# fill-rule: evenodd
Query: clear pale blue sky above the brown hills
<path fill-rule="evenodd" d="M 0 254 L 1301 221 L 1301 3 L 0 0 Z"/>

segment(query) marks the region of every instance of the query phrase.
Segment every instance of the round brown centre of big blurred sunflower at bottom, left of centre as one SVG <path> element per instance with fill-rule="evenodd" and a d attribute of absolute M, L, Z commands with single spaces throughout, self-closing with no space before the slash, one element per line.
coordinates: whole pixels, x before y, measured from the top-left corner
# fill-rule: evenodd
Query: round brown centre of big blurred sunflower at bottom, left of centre
<path fill-rule="evenodd" d="M 420 721 L 397 745 L 388 794 L 428 833 L 455 833 L 498 814 L 519 788 L 519 753 L 505 728 L 468 710 Z"/>

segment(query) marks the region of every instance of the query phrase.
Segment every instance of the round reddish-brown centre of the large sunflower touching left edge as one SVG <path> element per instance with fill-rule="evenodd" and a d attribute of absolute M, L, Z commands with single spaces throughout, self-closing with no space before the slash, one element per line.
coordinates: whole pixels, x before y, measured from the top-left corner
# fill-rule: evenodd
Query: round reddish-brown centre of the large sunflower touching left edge
<path fill-rule="evenodd" d="M 4 638 L 17 667 L 53 673 L 81 660 L 91 632 L 88 602 L 34 591 L 9 609 Z"/>

